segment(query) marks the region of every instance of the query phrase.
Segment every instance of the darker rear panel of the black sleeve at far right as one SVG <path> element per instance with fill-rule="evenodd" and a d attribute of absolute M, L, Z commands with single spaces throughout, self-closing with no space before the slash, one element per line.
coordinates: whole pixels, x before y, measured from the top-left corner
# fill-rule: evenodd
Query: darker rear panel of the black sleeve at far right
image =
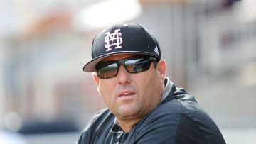
<path fill-rule="evenodd" d="M 225 143 L 220 129 L 198 104 L 181 101 L 182 113 L 176 133 L 177 143 Z"/>

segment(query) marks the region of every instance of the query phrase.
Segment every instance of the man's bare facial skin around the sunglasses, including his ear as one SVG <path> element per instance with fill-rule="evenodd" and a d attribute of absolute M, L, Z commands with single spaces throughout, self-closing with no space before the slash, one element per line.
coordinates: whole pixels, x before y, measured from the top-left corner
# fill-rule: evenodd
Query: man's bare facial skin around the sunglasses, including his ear
<path fill-rule="evenodd" d="M 102 61 L 122 60 L 132 56 L 134 55 L 112 55 Z M 144 72 L 131 74 L 121 65 L 116 77 L 100 79 L 94 73 L 93 78 L 103 101 L 117 119 L 141 120 L 161 100 L 165 71 L 165 62 L 160 60 L 156 68 L 151 62 L 149 70 Z"/>

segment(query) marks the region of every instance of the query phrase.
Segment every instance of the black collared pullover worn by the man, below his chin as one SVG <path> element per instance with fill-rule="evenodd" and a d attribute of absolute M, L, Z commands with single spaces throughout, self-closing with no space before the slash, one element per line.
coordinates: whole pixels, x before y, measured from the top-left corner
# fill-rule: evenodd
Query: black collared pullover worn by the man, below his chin
<path fill-rule="evenodd" d="M 109 109 L 102 109 L 82 131 L 78 144 L 222 144 L 218 126 L 199 108 L 193 96 L 166 78 L 166 89 L 156 109 L 129 133 L 122 131 Z"/>

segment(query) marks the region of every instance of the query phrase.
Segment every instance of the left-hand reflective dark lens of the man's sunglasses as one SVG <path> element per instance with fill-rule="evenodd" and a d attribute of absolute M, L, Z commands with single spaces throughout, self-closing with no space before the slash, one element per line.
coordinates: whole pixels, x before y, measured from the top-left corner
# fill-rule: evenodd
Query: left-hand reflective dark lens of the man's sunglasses
<path fill-rule="evenodd" d="M 118 71 L 118 65 L 117 63 L 112 63 L 112 64 L 102 64 L 99 65 L 98 67 L 102 67 L 97 70 L 97 74 L 101 79 L 108 79 L 110 77 L 115 77 L 117 75 Z"/>

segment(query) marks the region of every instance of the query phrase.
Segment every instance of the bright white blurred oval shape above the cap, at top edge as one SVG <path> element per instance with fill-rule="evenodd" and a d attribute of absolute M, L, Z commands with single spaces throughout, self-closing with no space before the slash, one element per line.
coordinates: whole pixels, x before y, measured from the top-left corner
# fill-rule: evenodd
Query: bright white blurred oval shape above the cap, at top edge
<path fill-rule="evenodd" d="M 142 12 L 137 0 L 109 0 L 86 6 L 75 13 L 73 24 L 79 31 L 88 31 L 122 21 L 132 21 Z"/>

